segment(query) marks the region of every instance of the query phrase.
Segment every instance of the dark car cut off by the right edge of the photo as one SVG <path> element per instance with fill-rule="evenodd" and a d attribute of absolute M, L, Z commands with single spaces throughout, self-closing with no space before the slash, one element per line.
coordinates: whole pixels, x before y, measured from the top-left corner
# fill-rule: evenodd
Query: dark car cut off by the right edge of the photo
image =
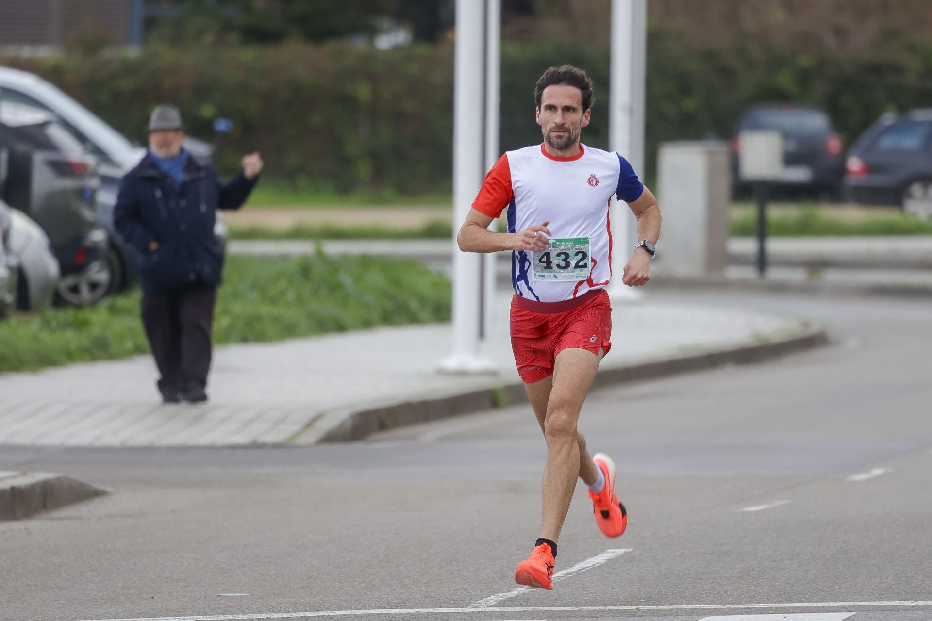
<path fill-rule="evenodd" d="M 848 151 L 844 196 L 932 217 L 932 109 L 883 115 Z"/>

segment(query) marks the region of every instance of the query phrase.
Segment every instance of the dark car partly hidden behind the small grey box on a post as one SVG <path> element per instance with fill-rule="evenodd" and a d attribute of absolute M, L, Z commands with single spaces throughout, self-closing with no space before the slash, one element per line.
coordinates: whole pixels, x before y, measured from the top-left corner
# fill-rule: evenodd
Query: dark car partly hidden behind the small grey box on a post
<path fill-rule="evenodd" d="M 739 134 L 746 129 L 772 129 L 783 135 L 783 179 L 779 189 L 838 196 L 844 175 L 844 144 L 822 110 L 797 103 L 761 104 L 747 108 L 734 124 L 733 179 L 736 193 L 749 189 L 738 177 Z"/>

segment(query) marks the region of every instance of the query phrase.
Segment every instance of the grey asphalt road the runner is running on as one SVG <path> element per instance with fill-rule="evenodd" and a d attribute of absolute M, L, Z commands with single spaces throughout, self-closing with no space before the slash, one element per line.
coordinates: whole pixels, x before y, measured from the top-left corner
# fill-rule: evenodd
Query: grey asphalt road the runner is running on
<path fill-rule="evenodd" d="M 518 405 L 350 445 L 4 447 L 0 469 L 115 493 L 0 522 L 0 619 L 932 619 L 932 306 L 651 295 L 810 317 L 833 344 L 594 392 L 581 427 L 628 532 L 602 536 L 579 486 L 553 592 L 512 581 L 545 456 Z"/>

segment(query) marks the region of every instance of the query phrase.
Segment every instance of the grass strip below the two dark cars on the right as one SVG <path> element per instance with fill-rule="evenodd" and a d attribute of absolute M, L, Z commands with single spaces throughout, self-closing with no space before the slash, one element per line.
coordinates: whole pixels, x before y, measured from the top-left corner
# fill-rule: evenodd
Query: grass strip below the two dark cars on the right
<path fill-rule="evenodd" d="M 732 217 L 732 236 L 757 235 L 757 213 L 743 212 Z M 932 221 L 897 213 L 862 219 L 833 217 L 823 209 L 807 207 L 792 213 L 767 213 L 767 235 L 787 236 L 903 236 L 932 235 Z"/>

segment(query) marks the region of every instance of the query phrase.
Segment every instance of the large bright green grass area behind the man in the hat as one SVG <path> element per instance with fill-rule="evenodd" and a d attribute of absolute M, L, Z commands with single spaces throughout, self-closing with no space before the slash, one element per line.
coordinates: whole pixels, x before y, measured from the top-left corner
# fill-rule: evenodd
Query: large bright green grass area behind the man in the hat
<path fill-rule="evenodd" d="M 450 283 L 415 261 L 230 256 L 213 322 L 215 344 L 279 341 L 381 325 L 444 321 Z M 139 291 L 87 308 L 48 308 L 0 321 L 0 372 L 148 353 Z"/>

